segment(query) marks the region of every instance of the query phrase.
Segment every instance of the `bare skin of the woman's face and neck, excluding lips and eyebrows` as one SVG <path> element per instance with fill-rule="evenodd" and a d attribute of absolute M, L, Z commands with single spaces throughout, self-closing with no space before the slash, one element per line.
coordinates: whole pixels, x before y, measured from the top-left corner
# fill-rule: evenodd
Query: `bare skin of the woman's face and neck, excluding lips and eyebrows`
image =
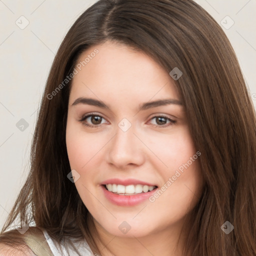
<path fill-rule="evenodd" d="M 198 159 L 154 202 L 146 199 L 135 206 L 118 206 L 104 196 L 100 187 L 109 178 L 135 178 L 160 188 L 195 154 L 182 105 L 137 110 L 148 101 L 180 100 L 177 88 L 157 62 L 122 44 L 107 41 L 94 45 L 81 54 L 78 62 L 95 48 L 98 54 L 72 81 L 66 146 L 70 167 L 80 175 L 74 184 L 103 244 L 107 244 L 98 244 L 101 255 L 181 256 L 182 236 L 177 244 L 178 235 L 203 185 Z M 78 97 L 101 100 L 109 109 L 72 105 Z M 100 114 L 101 122 L 91 117 L 79 121 L 90 113 Z M 154 118 L 159 115 L 166 116 L 163 122 Z M 118 126 L 123 118 L 131 123 L 125 132 Z M 84 123 L 98 126 L 87 127 Z M 126 234 L 118 228 L 123 221 L 131 227 Z"/>

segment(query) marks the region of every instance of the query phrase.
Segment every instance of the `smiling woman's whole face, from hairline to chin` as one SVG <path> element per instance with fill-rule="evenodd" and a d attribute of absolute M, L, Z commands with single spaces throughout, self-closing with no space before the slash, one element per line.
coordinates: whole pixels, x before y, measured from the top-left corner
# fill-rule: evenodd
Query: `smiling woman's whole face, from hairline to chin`
<path fill-rule="evenodd" d="M 106 42 L 80 56 L 66 146 L 74 185 L 106 233 L 178 230 L 200 196 L 200 152 L 173 79 L 127 46 Z"/>

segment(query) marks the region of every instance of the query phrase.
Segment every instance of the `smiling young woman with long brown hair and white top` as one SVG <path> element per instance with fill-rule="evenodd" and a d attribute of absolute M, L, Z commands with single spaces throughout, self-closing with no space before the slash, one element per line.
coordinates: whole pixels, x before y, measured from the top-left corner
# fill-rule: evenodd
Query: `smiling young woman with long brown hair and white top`
<path fill-rule="evenodd" d="M 54 59 L 0 251 L 256 255 L 255 152 L 254 109 L 209 14 L 99 0 Z"/>

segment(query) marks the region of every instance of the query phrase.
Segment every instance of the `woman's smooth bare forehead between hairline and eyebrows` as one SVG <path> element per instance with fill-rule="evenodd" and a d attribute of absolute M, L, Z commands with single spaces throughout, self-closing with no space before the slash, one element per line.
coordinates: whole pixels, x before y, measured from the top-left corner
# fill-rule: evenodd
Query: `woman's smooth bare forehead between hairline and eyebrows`
<path fill-rule="evenodd" d="M 96 96 L 103 101 L 108 97 L 113 102 L 117 98 L 120 101 L 164 96 L 178 99 L 168 72 L 145 53 L 124 44 L 108 41 L 91 46 L 79 56 L 76 70 L 71 99 L 80 96 Z"/>

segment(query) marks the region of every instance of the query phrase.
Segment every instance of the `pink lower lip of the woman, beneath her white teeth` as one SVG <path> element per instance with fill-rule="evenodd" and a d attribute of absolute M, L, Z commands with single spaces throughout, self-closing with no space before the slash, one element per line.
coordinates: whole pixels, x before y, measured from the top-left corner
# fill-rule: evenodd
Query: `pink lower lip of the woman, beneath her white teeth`
<path fill-rule="evenodd" d="M 105 197 L 112 203 L 119 205 L 119 206 L 132 206 L 141 203 L 142 201 L 146 200 L 150 195 L 155 193 L 156 189 L 148 191 L 146 193 L 138 193 L 133 195 L 119 195 L 113 192 L 110 192 L 106 189 L 104 185 L 101 185 L 103 189 L 103 193 Z"/>

